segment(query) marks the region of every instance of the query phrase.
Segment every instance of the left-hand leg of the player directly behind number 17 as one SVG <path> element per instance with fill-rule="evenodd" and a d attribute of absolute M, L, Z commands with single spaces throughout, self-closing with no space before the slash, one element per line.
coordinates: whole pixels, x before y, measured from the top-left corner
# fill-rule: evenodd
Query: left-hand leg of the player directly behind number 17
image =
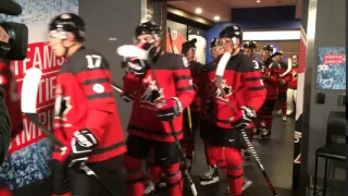
<path fill-rule="evenodd" d="M 153 142 L 129 135 L 127 138 L 127 152 L 124 157 L 124 166 L 126 169 L 126 187 L 127 196 L 142 196 L 144 195 L 144 172 L 141 169 L 141 160 L 148 156 L 151 150 Z"/>

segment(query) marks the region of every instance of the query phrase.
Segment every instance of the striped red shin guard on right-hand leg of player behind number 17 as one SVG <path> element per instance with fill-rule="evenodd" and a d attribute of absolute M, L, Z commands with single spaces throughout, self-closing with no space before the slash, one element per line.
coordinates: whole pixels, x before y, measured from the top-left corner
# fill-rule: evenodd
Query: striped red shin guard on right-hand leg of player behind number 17
<path fill-rule="evenodd" d="M 166 187 L 170 196 L 182 196 L 184 192 L 183 175 L 179 170 L 179 163 L 162 168 L 165 174 Z"/>

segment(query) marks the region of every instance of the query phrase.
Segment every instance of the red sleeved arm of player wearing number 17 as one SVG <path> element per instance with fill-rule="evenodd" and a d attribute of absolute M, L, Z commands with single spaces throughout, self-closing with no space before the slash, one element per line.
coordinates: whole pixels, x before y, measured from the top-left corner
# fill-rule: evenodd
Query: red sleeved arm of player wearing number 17
<path fill-rule="evenodd" d="M 100 140 L 103 138 L 103 127 L 110 122 L 110 115 L 115 112 L 116 106 L 107 60 L 101 56 L 91 57 L 94 57 L 94 65 L 89 68 L 84 64 L 79 65 L 75 75 L 87 100 L 85 127 Z"/>

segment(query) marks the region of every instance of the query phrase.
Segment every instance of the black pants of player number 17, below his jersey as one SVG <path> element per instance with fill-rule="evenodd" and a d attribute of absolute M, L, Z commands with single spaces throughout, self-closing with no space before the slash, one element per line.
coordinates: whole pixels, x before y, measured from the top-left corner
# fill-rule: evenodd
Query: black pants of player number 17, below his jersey
<path fill-rule="evenodd" d="M 126 194 L 125 172 L 123 168 L 123 156 L 112 159 L 87 163 L 99 179 L 105 183 L 116 195 Z M 108 192 L 95 177 L 86 175 L 85 171 L 71 169 L 72 195 L 83 196 L 109 196 Z M 117 184 L 117 186 L 115 186 Z"/>

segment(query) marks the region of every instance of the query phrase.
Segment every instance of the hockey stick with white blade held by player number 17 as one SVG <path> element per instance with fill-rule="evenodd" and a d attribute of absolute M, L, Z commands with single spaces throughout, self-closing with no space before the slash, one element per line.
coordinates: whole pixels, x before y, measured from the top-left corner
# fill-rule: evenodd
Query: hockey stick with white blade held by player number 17
<path fill-rule="evenodd" d="M 42 72 L 40 69 L 32 68 L 26 71 L 25 77 L 23 79 L 22 86 L 22 99 L 21 99 L 21 109 L 22 112 L 32 121 L 36 126 L 38 126 L 54 144 L 60 147 L 64 147 L 64 144 L 60 142 L 53 133 L 45 126 L 36 113 L 36 99 L 37 91 L 40 84 Z M 85 171 L 88 176 L 95 177 L 98 183 L 105 188 L 108 195 L 116 196 L 115 193 L 104 183 L 99 176 L 90 170 L 86 164 L 80 167 L 80 170 Z"/>

